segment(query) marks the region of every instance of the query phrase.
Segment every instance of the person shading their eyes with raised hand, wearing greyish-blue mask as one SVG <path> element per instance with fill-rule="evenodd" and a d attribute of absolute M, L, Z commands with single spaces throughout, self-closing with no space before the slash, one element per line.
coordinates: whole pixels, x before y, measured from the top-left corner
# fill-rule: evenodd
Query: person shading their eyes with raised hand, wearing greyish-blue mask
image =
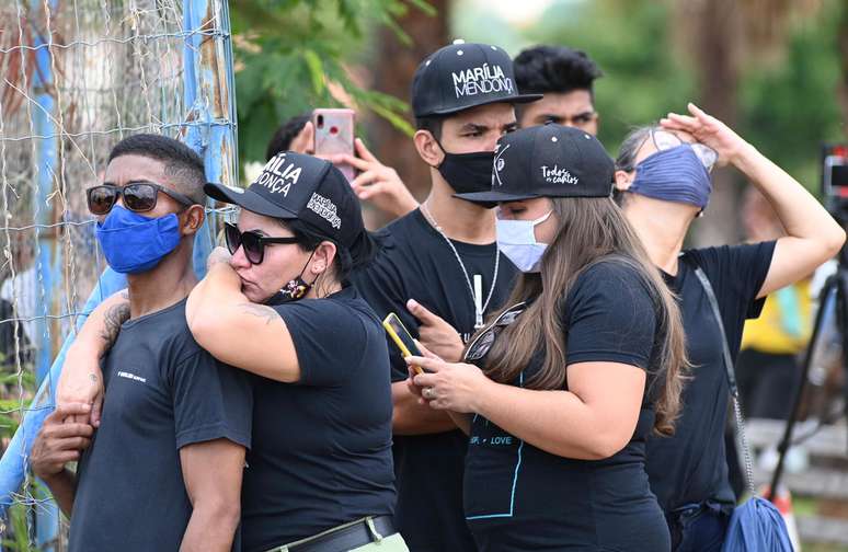
<path fill-rule="evenodd" d="M 732 164 L 775 208 L 787 235 L 744 245 L 683 250 L 707 208 L 714 165 Z M 720 550 L 735 497 L 724 451 L 730 388 L 723 341 L 735 361 L 745 319 L 765 297 L 800 280 L 839 251 L 845 232 L 792 176 L 722 122 L 689 104 L 622 142 L 616 188 L 651 261 L 677 295 L 691 370 L 671 438 L 648 446 L 651 487 L 668 517 L 677 551 Z M 700 268 L 714 289 L 723 333 Z"/>

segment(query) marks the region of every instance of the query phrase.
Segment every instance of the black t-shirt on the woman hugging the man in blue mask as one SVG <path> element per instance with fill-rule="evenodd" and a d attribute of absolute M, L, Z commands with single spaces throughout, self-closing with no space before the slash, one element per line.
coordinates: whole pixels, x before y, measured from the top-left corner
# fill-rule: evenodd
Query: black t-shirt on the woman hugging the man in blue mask
<path fill-rule="evenodd" d="M 353 287 L 274 307 L 300 381 L 254 379 L 242 491 L 248 552 L 391 515 L 391 382 L 382 326 Z"/>

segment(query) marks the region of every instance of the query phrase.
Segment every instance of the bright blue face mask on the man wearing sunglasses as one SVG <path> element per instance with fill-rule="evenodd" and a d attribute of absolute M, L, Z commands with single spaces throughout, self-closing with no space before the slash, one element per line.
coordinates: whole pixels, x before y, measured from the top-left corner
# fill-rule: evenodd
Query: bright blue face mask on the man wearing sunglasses
<path fill-rule="evenodd" d="M 139 274 L 153 268 L 180 244 L 180 219 L 173 212 L 148 218 L 116 205 L 98 222 L 96 235 L 113 271 Z"/>

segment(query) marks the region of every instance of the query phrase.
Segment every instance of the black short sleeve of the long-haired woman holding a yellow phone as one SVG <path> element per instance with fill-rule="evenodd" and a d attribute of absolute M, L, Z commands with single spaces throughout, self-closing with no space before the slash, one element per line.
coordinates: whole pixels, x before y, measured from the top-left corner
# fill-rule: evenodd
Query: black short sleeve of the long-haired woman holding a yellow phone
<path fill-rule="evenodd" d="M 654 301 L 635 269 L 619 261 L 601 261 L 576 279 L 565 301 L 566 361 L 648 369 L 655 326 Z"/>

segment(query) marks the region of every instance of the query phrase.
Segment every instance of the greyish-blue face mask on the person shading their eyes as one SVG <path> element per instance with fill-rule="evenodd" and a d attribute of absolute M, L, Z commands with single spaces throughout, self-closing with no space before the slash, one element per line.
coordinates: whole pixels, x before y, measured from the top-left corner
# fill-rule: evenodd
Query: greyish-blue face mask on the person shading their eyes
<path fill-rule="evenodd" d="M 657 151 L 635 168 L 628 192 L 703 209 L 710 200 L 710 173 L 688 143 Z"/>

